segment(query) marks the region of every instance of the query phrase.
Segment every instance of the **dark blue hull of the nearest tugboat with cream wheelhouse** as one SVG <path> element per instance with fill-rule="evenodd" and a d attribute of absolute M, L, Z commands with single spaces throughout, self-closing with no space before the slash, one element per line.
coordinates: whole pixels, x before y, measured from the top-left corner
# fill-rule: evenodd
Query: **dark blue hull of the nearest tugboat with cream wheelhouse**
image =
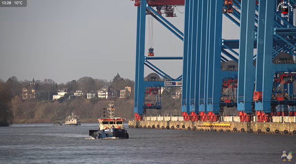
<path fill-rule="evenodd" d="M 94 130 L 90 130 L 91 132 L 94 132 Z M 91 135 L 95 139 L 102 139 L 102 138 L 128 138 L 128 133 L 124 129 L 117 129 L 117 128 L 111 128 L 111 129 L 104 129 L 104 130 L 98 130 L 94 132 Z"/>

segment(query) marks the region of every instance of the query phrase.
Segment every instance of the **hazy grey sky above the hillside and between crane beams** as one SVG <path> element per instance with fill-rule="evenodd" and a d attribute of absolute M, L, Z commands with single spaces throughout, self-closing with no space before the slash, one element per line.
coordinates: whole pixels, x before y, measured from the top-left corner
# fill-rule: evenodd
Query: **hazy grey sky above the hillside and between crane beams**
<path fill-rule="evenodd" d="M 184 7 L 166 19 L 184 31 Z M 0 79 L 53 79 L 65 83 L 89 76 L 135 79 L 137 7 L 130 0 L 28 0 L 27 7 L 0 8 Z M 183 42 L 153 21 L 154 55 L 183 56 Z M 238 39 L 239 28 L 223 16 L 222 37 Z M 145 54 L 147 56 L 147 54 Z M 182 60 L 151 61 L 171 77 Z M 145 76 L 153 72 L 145 68 Z"/>

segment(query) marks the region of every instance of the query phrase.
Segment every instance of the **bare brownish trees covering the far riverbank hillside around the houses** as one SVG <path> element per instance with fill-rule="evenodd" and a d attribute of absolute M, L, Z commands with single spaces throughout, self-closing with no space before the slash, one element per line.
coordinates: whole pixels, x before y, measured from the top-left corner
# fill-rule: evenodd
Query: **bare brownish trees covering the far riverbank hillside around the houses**
<path fill-rule="evenodd" d="M 33 83 L 33 79 L 19 81 L 15 76 L 10 77 L 6 82 L 0 80 L 0 124 L 64 121 L 71 112 L 78 115 L 82 122 L 96 122 L 98 118 L 103 117 L 102 108 L 107 107 L 108 103 L 115 105 L 115 116 L 134 118 L 133 95 L 129 99 L 102 100 L 77 97 L 66 101 L 65 98 L 63 101 L 48 100 L 49 93 L 52 97 L 62 88 L 68 88 L 68 92 L 76 92 L 76 90 L 90 92 L 99 90 L 105 85 L 111 86 L 115 91 L 124 89 L 126 86 L 134 86 L 134 81 L 122 78 L 118 73 L 110 81 L 92 77 L 81 77 L 78 80 L 60 84 L 52 79 L 35 80 L 35 88 L 40 91 L 39 95 L 30 101 L 22 100 L 22 88 L 30 83 Z M 163 92 L 162 110 L 147 110 L 147 115 L 162 115 L 163 110 L 180 111 L 181 100 L 171 98 L 175 94 L 174 90 L 171 88 Z"/>

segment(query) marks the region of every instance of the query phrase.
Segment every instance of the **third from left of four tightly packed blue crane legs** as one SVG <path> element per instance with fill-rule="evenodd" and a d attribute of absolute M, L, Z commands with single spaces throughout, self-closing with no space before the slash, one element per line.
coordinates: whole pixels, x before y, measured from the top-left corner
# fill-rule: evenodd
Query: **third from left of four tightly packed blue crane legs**
<path fill-rule="evenodd" d="M 202 18 L 201 18 L 201 37 L 200 37 L 200 77 L 199 77 L 199 112 L 206 112 L 205 110 L 205 47 L 207 36 L 207 3 L 202 1 Z"/>

